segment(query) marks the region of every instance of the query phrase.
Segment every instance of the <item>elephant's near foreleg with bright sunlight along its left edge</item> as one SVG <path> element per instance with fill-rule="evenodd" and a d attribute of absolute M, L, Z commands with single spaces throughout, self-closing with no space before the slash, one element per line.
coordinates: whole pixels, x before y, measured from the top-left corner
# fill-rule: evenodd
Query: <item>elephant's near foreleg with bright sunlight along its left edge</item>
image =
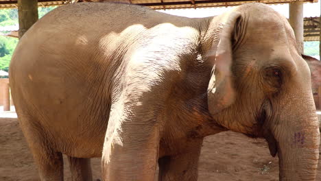
<path fill-rule="evenodd" d="M 154 180 L 159 133 L 144 104 L 113 105 L 102 154 L 105 181 Z"/>

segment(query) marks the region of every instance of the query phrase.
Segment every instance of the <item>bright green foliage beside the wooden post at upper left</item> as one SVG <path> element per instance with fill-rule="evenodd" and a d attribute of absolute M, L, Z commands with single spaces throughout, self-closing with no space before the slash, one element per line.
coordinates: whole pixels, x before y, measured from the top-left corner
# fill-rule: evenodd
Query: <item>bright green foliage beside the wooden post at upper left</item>
<path fill-rule="evenodd" d="M 56 7 L 38 8 L 39 18 L 50 12 Z M 0 10 L 0 27 L 17 25 L 19 23 L 18 10 Z M 5 33 L 5 32 L 3 32 Z M 0 70 L 8 71 L 12 53 L 18 43 L 17 38 L 0 36 Z"/>

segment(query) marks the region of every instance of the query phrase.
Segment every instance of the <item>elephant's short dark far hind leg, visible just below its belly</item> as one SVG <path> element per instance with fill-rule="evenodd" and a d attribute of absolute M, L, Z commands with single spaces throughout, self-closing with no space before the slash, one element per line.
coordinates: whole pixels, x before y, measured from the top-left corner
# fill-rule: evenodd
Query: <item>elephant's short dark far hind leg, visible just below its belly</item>
<path fill-rule="evenodd" d="M 73 181 L 92 181 L 91 159 L 68 156 Z"/>

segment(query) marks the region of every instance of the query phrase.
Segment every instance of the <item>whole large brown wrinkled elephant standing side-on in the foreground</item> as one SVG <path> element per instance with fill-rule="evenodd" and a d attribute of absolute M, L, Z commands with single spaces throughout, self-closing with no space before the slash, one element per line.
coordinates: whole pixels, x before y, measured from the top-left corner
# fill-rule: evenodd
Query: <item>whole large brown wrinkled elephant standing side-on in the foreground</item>
<path fill-rule="evenodd" d="M 204 136 L 268 141 L 280 180 L 315 180 L 310 72 L 268 5 L 188 19 L 134 5 L 65 5 L 21 38 L 12 96 L 41 180 L 197 180 Z"/>

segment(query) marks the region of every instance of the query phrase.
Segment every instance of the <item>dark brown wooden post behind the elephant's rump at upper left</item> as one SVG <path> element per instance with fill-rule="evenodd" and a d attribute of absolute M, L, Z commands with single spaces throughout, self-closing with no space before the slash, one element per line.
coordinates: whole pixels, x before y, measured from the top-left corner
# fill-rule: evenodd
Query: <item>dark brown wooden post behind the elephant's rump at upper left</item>
<path fill-rule="evenodd" d="M 19 38 L 38 20 L 38 0 L 18 0 Z"/>

